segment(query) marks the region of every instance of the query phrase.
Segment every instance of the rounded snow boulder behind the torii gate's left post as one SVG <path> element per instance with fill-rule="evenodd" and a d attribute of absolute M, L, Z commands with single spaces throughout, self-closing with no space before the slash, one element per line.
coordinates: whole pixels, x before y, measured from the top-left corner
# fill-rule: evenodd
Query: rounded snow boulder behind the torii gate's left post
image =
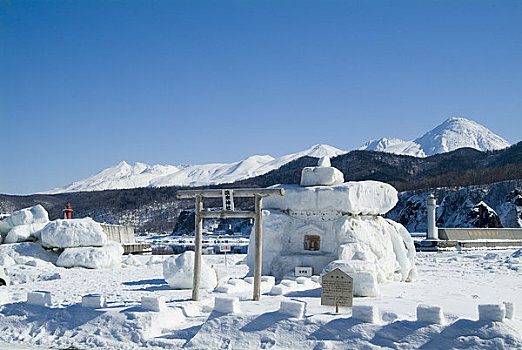
<path fill-rule="evenodd" d="M 173 289 L 191 289 L 194 278 L 194 256 L 193 251 L 171 256 L 163 262 L 163 276 L 165 281 Z M 205 264 L 201 259 L 200 287 L 203 289 L 214 289 L 217 284 L 216 272 Z"/>

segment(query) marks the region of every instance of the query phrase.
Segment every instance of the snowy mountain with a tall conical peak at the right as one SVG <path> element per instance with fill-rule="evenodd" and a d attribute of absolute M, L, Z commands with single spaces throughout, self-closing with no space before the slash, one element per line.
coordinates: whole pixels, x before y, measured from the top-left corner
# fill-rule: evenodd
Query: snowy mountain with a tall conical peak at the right
<path fill-rule="evenodd" d="M 491 151 L 509 146 L 502 137 L 472 120 L 449 118 L 413 141 L 382 138 L 371 140 L 358 149 L 426 157 L 462 147 Z"/>

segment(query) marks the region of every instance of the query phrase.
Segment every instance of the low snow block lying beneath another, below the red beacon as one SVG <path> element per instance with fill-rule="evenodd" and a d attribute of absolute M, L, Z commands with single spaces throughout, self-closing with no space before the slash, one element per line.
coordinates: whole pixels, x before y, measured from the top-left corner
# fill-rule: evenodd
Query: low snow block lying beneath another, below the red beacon
<path fill-rule="evenodd" d="M 67 248 L 58 257 L 57 266 L 110 269 L 120 267 L 123 247 L 110 241 L 103 247 Z"/>

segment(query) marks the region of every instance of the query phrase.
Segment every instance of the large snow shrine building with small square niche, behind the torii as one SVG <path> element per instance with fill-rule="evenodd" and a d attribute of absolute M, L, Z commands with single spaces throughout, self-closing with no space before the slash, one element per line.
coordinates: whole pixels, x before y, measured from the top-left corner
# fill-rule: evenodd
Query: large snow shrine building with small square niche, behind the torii
<path fill-rule="evenodd" d="M 302 170 L 301 185 L 276 185 L 263 210 L 263 274 L 277 279 L 309 266 L 314 274 L 340 268 L 354 279 L 354 294 L 375 296 L 379 283 L 416 277 L 409 232 L 381 215 L 397 203 L 397 191 L 378 181 L 344 182 L 329 158 Z M 253 235 L 247 263 L 253 269 Z"/>

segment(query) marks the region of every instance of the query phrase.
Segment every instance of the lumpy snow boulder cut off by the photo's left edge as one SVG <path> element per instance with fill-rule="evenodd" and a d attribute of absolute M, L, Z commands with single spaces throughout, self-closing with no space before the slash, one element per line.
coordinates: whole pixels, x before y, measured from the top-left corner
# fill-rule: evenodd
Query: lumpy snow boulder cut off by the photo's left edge
<path fill-rule="evenodd" d="M 49 214 L 40 204 L 13 212 L 0 221 L 3 243 L 18 243 L 38 238 L 39 231 L 49 222 Z"/>

